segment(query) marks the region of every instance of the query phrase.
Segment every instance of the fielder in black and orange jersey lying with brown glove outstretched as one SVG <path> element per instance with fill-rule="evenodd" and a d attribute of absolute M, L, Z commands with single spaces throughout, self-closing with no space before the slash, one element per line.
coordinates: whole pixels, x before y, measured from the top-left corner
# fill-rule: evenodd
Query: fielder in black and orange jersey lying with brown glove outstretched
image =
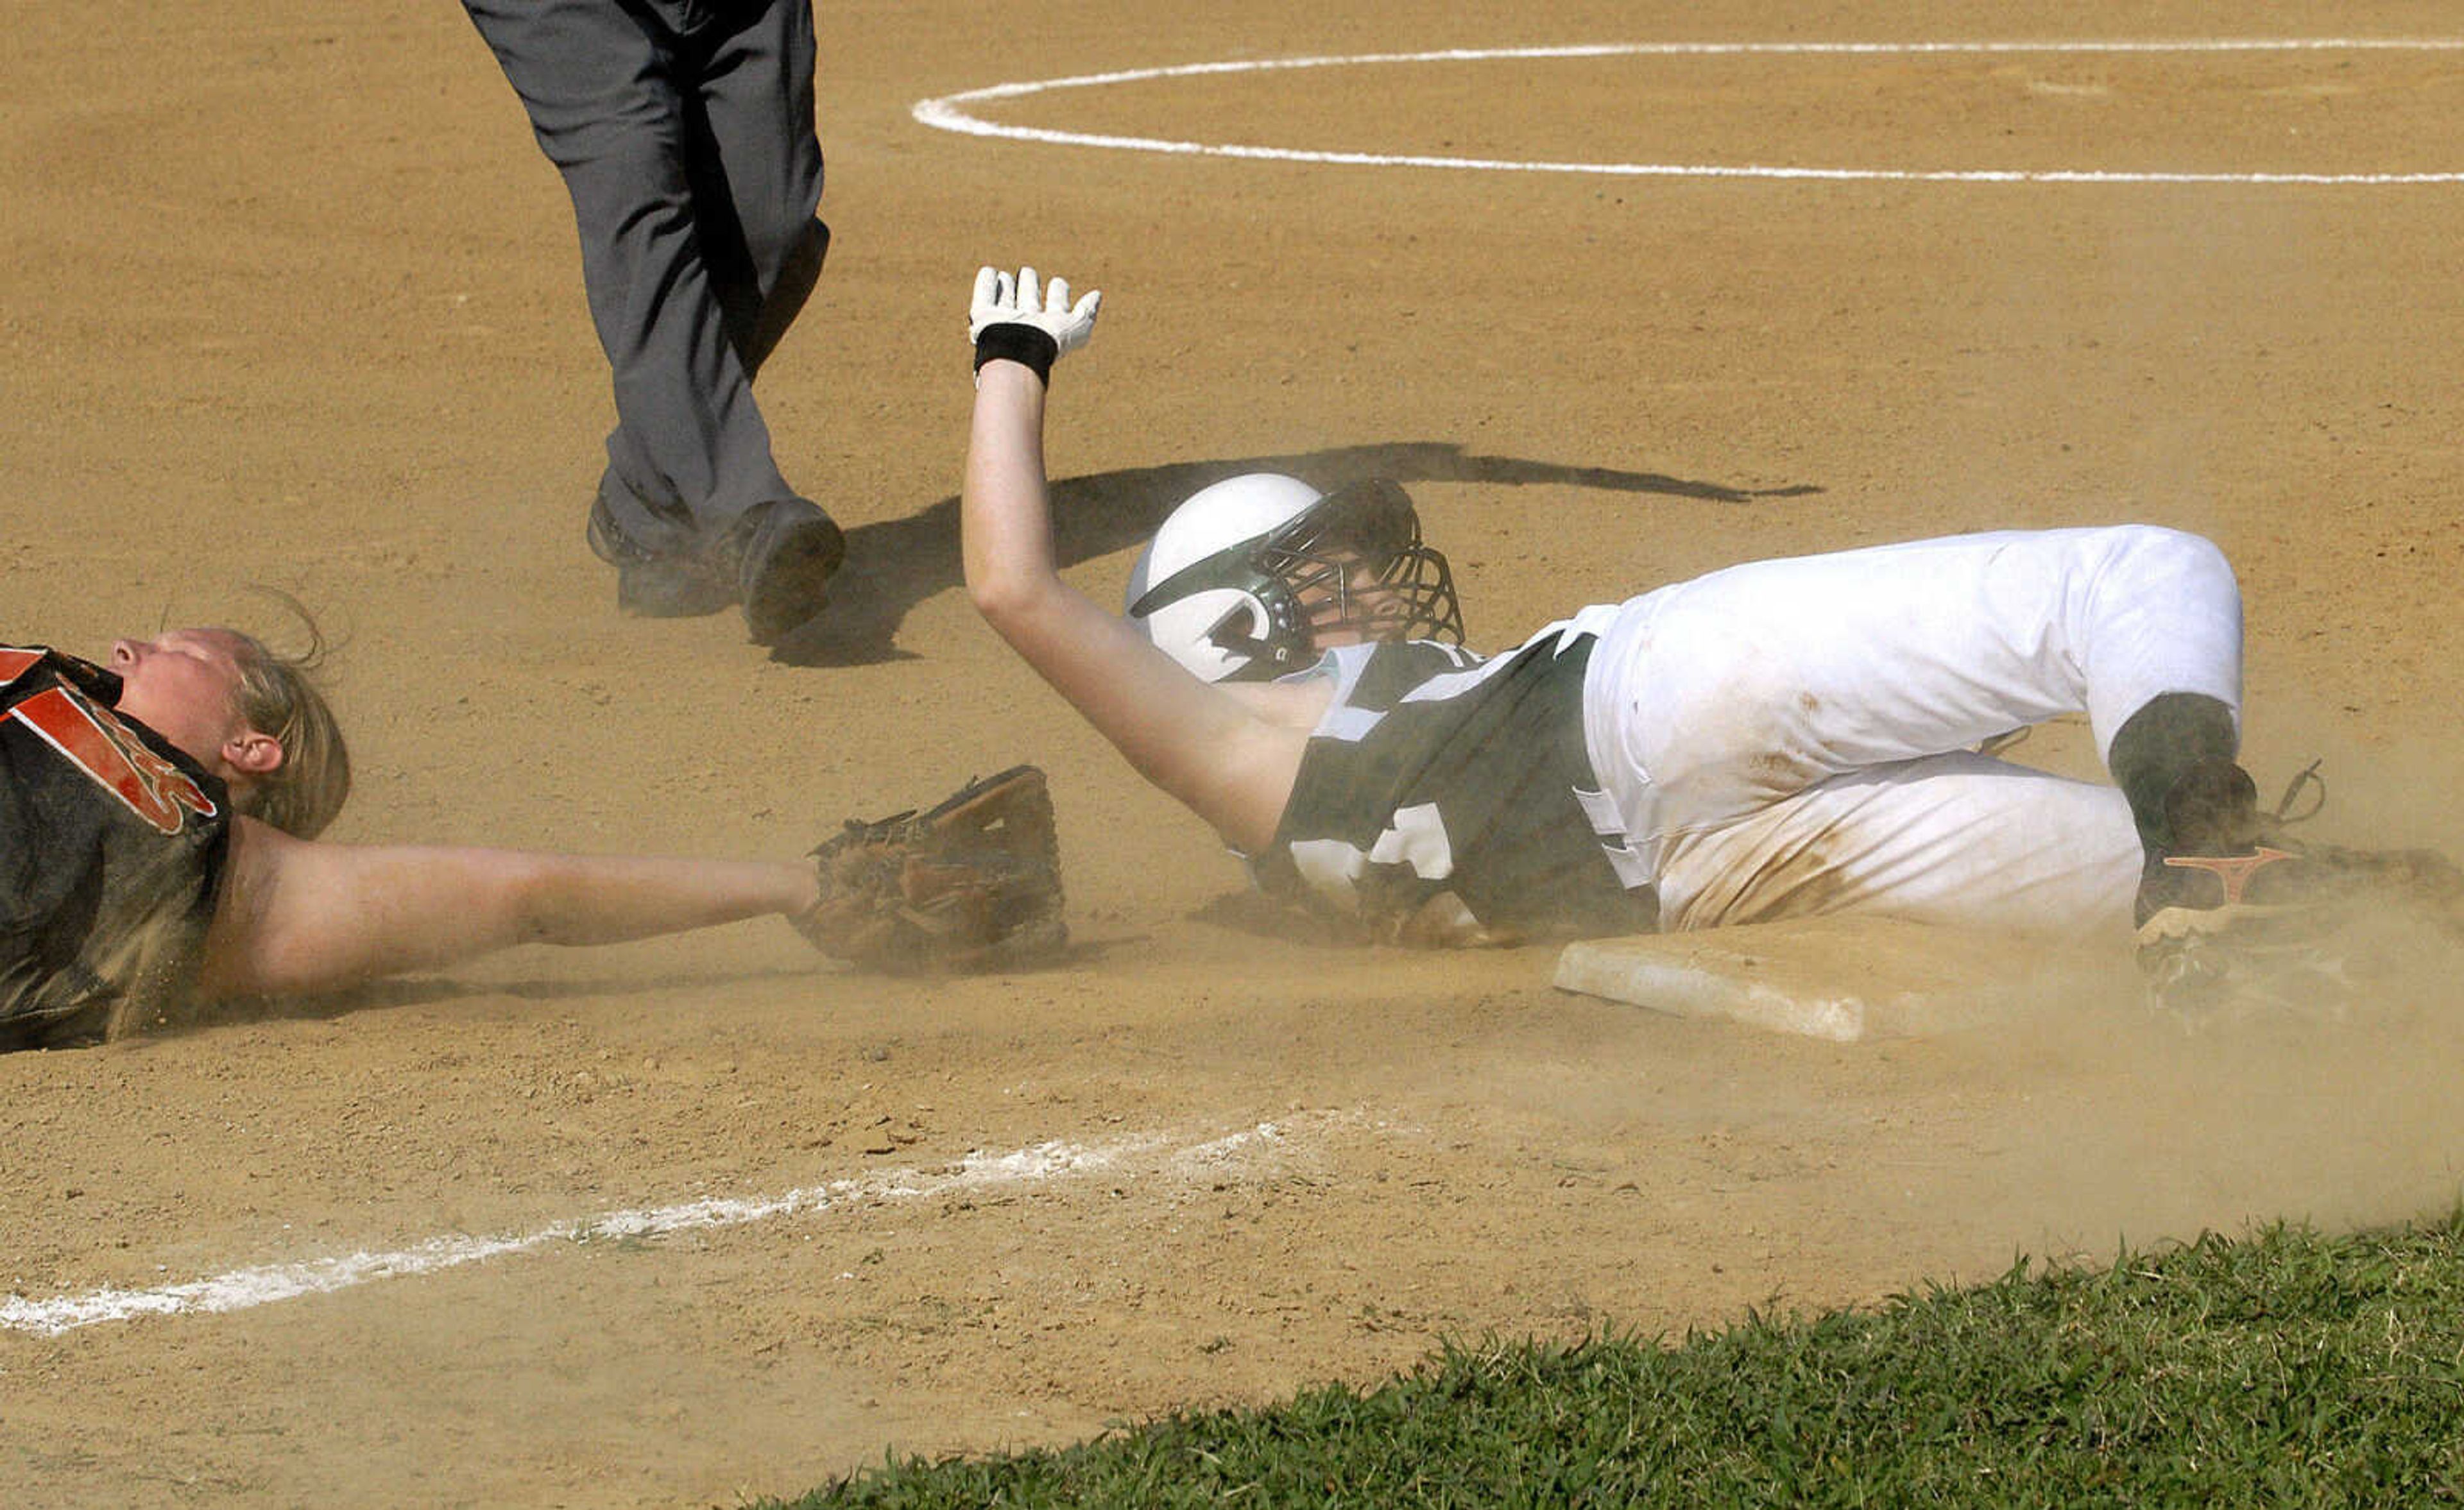
<path fill-rule="evenodd" d="M 818 865 L 320 842 L 347 796 L 306 665 L 249 636 L 118 640 L 108 668 L 0 645 L 0 1049 L 764 914 L 885 968 L 1010 963 L 1064 936 L 1032 766 L 848 823 Z"/>

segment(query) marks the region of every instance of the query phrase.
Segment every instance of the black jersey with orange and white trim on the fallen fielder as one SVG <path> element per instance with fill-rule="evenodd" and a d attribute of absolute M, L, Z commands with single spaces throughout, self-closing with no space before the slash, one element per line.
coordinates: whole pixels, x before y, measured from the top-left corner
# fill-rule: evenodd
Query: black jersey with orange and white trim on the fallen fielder
<path fill-rule="evenodd" d="M 94 1042 L 195 985 L 229 796 L 118 695 L 99 665 L 0 645 L 0 1049 Z"/>

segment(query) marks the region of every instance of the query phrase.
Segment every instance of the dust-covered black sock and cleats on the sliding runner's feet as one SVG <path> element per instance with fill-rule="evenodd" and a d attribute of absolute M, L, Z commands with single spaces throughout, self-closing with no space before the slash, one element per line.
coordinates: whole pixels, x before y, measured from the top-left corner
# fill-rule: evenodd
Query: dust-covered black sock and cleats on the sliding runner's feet
<path fill-rule="evenodd" d="M 2247 771 L 2205 761 L 2166 793 L 2173 842 L 2149 855 L 2136 904 L 2139 968 L 2158 1003 L 2314 1005 L 2348 990 L 2343 943 L 2365 914 L 2464 919 L 2464 872 L 2444 855 L 2287 838 L 2287 808 L 2309 783 L 2314 771 L 2262 813 Z"/>

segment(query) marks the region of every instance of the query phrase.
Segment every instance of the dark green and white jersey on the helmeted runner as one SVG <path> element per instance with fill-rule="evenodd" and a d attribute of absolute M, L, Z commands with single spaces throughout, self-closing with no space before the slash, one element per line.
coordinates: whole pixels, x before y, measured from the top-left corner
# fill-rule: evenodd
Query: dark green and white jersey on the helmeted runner
<path fill-rule="evenodd" d="M 1259 884 L 1409 943 L 1530 934 L 1643 934 L 1597 828 L 1607 813 L 1582 744 L 1597 633 L 1550 626 L 1483 660 L 1432 640 L 1345 645 L 1299 677 L 1333 702 L 1301 754 Z"/>

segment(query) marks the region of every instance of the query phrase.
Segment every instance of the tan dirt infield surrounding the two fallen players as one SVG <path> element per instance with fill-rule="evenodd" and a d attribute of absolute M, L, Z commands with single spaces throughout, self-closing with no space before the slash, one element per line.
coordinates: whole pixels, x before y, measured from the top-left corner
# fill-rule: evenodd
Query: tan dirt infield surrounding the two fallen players
<path fill-rule="evenodd" d="M 1488 59 L 978 106 L 1365 155 L 2215 182 L 1313 165 L 909 116 L 1215 59 L 2198 39 L 2213 10 L 1932 2 L 1875 34 L 1777 2 L 823 0 L 838 241 L 764 402 L 853 554 L 771 658 L 734 618 L 611 611 L 567 204 L 456 7 L 27 7 L 5 633 L 281 628 L 244 584 L 296 591 L 347 636 L 342 840 L 798 855 L 1032 759 L 1079 946 L 919 985 L 747 926 L 0 1059 L 0 1296 L 67 1325 L 0 1328 L 0 1500 L 732 1503 L 1375 1379 L 1441 1335 L 1683 1333 L 2023 1251 L 2444 1209 L 2452 958 L 2336 1025 L 2183 1037 L 2117 953 L 1996 1030 L 1814 1044 L 1557 993 L 1538 948 L 1299 943 L 956 591 L 963 298 L 1035 261 L 1106 291 L 1052 424 L 1099 596 L 1178 495 L 1266 461 L 1400 475 L 1481 643 L 1757 554 L 2183 525 L 2242 571 L 2262 783 L 2326 756 L 2321 828 L 2464 850 L 2464 185 L 2255 177 L 2464 168 L 2464 52 Z M 2235 34 L 2452 20 L 2259 0 Z"/>

